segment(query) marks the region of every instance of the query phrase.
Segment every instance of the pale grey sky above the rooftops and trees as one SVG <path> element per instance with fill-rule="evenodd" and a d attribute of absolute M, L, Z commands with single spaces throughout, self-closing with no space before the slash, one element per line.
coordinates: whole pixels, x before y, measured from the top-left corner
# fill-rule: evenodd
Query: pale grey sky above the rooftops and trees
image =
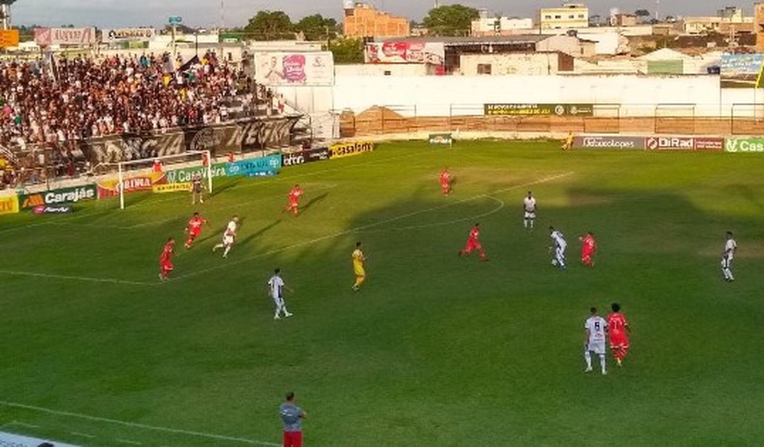
<path fill-rule="evenodd" d="M 620 11 L 656 10 L 656 0 L 589 0 L 582 1 L 591 14 L 607 14 L 610 8 Z M 223 5 L 226 27 L 243 26 L 257 11 L 285 11 L 296 21 L 309 14 L 342 18 L 342 0 L 18 0 L 11 6 L 14 24 L 58 26 L 74 24 L 97 27 L 160 26 L 170 15 L 180 15 L 191 27 L 216 27 L 220 24 Z M 367 0 L 367 3 L 391 14 L 421 21 L 434 0 Z M 485 8 L 503 15 L 533 17 L 539 6 L 557 6 L 555 0 L 441 0 L 441 5 L 461 3 Z M 662 0 L 658 7 L 663 17 L 669 15 L 714 15 L 732 0 Z M 746 14 L 753 9 L 753 0 L 740 4 Z"/>

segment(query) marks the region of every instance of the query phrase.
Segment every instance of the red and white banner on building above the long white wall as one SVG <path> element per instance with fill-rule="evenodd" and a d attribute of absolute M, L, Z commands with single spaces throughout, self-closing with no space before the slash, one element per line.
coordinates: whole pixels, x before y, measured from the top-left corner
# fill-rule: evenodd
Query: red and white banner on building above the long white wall
<path fill-rule="evenodd" d="M 445 46 L 437 42 L 371 42 L 366 44 L 366 63 L 428 63 L 443 65 Z"/>

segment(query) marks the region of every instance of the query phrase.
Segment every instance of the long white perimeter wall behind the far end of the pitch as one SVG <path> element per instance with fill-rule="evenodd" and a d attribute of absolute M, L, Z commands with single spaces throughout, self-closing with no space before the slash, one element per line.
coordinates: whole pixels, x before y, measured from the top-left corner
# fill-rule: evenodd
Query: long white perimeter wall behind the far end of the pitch
<path fill-rule="evenodd" d="M 729 116 L 733 104 L 764 104 L 764 94 L 719 87 L 717 76 L 337 76 L 333 108 L 356 113 L 398 106 L 404 115 L 482 114 L 484 103 L 620 104 L 620 115 Z M 736 108 L 736 116 L 745 108 Z"/>

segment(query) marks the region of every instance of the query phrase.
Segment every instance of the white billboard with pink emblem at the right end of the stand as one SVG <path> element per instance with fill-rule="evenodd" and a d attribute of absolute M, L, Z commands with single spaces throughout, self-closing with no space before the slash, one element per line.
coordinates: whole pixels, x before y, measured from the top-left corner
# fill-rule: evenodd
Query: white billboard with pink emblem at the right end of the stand
<path fill-rule="evenodd" d="M 333 85 L 334 57 L 329 51 L 255 53 L 255 79 L 263 85 Z"/>

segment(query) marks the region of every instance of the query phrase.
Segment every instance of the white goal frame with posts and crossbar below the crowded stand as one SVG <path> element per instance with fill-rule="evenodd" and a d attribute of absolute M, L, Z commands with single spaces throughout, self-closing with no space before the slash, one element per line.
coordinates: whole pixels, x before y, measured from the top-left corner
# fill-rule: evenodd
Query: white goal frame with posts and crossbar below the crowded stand
<path fill-rule="evenodd" d="M 206 177 L 207 180 L 207 191 L 212 193 L 212 153 L 209 150 L 189 150 L 175 155 L 118 162 L 116 163 L 116 189 L 119 193 L 119 208 L 121 210 L 125 209 L 125 194 L 130 191 L 130 188 L 125 188 L 125 183 L 136 175 L 152 174 L 154 172 L 154 163 L 156 162 L 161 163 L 162 172 L 165 173 L 173 171 L 190 172 L 201 168 L 199 171 L 202 172 L 202 178 Z"/>

